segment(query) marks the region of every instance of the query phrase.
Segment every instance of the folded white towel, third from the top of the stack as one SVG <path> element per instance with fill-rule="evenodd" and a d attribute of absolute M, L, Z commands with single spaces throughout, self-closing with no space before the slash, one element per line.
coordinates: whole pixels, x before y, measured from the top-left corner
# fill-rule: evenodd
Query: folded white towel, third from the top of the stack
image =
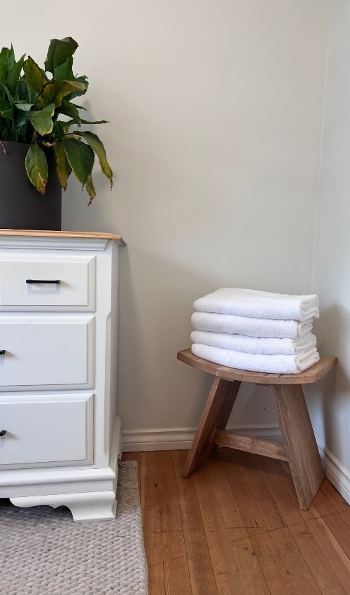
<path fill-rule="evenodd" d="M 245 353 L 265 353 L 266 355 L 292 356 L 300 351 L 308 351 L 316 347 L 316 337 L 307 332 L 300 339 L 268 339 L 246 337 L 246 335 L 230 335 L 228 332 L 209 332 L 207 330 L 193 330 L 193 343 L 202 343 L 222 349 L 244 351 Z"/>

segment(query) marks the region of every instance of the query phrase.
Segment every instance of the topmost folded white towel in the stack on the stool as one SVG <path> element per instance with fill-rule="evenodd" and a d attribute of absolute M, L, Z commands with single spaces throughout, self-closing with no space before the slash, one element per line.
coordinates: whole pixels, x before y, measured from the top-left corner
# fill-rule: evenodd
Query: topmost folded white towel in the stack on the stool
<path fill-rule="evenodd" d="M 318 296 L 269 293 L 257 289 L 223 288 L 200 297 L 195 311 L 253 318 L 305 321 L 318 318 Z"/>

